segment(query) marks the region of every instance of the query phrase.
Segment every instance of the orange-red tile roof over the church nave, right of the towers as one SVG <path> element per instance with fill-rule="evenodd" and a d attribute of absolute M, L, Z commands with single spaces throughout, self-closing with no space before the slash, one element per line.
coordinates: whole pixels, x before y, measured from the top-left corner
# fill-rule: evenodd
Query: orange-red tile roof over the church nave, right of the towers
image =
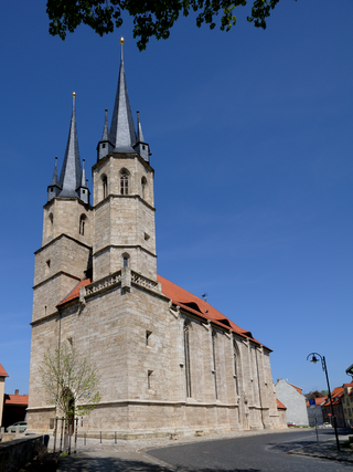
<path fill-rule="evenodd" d="M 162 293 L 168 296 L 168 298 L 171 298 L 174 305 L 178 305 L 186 312 L 193 313 L 204 319 L 210 319 L 212 323 L 222 326 L 223 328 L 232 329 L 234 333 L 237 333 L 244 337 L 248 337 L 260 345 L 260 343 L 253 337 L 249 331 L 240 328 L 238 325 L 233 323 L 221 312 L 210 305 L 210 303 L 205 302 L 196 295 L 193 295 L 181 286 L 162 277 L 161 275 L 157 275 L 157 279 L 162 286 Z"/>

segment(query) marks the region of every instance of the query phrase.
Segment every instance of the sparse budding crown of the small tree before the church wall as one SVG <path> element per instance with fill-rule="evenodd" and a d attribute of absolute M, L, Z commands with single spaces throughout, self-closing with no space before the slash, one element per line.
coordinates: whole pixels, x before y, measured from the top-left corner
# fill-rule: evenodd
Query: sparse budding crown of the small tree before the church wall
<path fill-rule="evenodd" d="M 58 415 L 83 416 L 100 401 L 96 366 L 69 342 L 46 350 L 40 373 L 47 400 Z"/>

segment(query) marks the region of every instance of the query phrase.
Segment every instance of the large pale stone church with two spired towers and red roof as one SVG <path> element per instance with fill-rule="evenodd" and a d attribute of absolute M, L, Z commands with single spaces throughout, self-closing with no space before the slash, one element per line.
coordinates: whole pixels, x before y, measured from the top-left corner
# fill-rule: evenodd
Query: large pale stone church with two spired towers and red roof
<path fill-rule="evenodd" d="M 157 274 L 153 168 L 139 115 L 135 127 L 122 51 L 92 196 L 85 172 L 73 94 L 66 151 L 61 172 L 55 159 L 35 252 L 29 429 L 54 426 L 39 368 L 46 349 L 66 339 L 100 377 L 100 402 L 79 421 L 82 431 L 130 439 L 282 427 L 271 350 Z"/>

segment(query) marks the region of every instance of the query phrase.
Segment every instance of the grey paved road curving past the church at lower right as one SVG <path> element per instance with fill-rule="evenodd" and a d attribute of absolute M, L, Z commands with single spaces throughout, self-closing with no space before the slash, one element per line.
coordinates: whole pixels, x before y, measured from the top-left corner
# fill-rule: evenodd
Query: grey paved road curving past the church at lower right
<path fill-rule="evenodd" d="M 333 438 L 333 430 L 320 430 L 320 440 Z M 287 454 L 291 449 L 315 442 L 314 431 L 264 434 L 205 441 L 153 449 L 147 453 L 178 470 L 197 472 L 335 472 L 352 471 L 350 462 Z"/>

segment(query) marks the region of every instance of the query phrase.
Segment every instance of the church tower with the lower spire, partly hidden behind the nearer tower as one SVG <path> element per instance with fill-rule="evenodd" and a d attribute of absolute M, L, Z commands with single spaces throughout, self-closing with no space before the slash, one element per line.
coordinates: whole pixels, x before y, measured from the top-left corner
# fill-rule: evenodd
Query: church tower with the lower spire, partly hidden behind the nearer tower
<path fill-rule="evenodd" d="M 74 93 L 63 167 L 58 178 L 55 158 L 44 206 L 42 248 L 35 252 L 33 321 L 56 312 L 57 303 L 89 270 L 90 227 L 92 207 L 79 159 Z"/>

